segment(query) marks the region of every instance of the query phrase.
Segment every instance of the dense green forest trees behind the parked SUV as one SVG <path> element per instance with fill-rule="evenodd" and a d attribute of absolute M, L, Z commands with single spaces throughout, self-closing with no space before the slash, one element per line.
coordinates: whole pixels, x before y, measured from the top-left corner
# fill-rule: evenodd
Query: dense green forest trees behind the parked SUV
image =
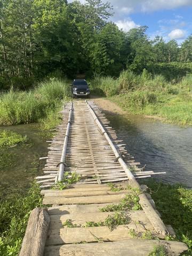
<path fill-rule="evenodd" d="M 108 21 L 111 15 L 113 7 L 101 0 L 1 0 L 0 90 L 27 90 L 44 77 L 78 73 L 115 78 L 122 70 L 146 69 L 169 81 L 191 73 L 192 36 L 180 46 L 151 40 L 147 26 L 124 32 Z"/>

